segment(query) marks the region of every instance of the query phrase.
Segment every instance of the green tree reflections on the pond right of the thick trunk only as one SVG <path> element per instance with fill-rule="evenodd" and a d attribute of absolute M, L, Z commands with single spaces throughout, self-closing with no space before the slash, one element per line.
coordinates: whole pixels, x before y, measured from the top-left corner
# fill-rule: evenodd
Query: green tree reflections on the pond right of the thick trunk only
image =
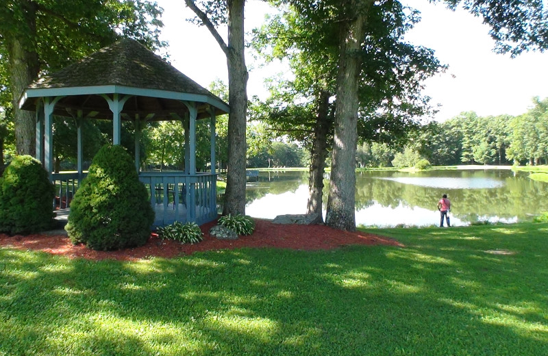
<path fill-rule="evenodd" d="M 444 189 L 398 183 L 377 177 L 409 177 L 410 173 L 365 172 L 356 176 L 356 209 L 378 203 L 383 207 L 422 207 L 436 210 L 436 204 L 447 194 L 453 208 L 451 213 L 463 221 L 474 222 L 483 216 L 526 219 L 528 214 L 548 210 L 548 201 L 541 199 L 547 188 L 543 182 L 525 175 L 513 177 L 503 170 L 434 170 L 416 173 L 412 177 L 458 177 L 496 179 L 504 182 L 501 188 Z"/>

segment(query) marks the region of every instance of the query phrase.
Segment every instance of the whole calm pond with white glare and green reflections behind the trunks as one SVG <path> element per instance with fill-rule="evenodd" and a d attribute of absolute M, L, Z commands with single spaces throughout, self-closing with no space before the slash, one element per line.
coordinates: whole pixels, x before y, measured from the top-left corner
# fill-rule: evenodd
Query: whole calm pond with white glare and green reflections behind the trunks
<path fill-rule="evenodd" d="M 356 225 L 439 225 L 437 203 L 443 194 L 451 200 L 453 226 L 529 221 L 548 210 L 548 183 L 527 176 L 509 169 L 358 172 Z M 325 218 L 328 174 L 324 183 Z M 307 201 L 308 172 L 261 171 L 257 181 L 247 183 L 246 214 L 256 218 L 304 214 Z"/>

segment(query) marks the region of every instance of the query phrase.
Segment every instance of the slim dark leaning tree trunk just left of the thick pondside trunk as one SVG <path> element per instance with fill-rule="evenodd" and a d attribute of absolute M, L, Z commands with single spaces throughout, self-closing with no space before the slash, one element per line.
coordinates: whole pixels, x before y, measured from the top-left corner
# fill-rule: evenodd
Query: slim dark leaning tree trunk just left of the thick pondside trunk
<path fill-rule="evenodd" d="M 316 127 L 314 128 L 314 142 L 310 154 L 310 175 L 308 177 L 310 196 L 307 203 L 307 212 L 308 214 L 318 213 L 322 223 L 323 173 L 325 171 L 325 158 L 327 157 L 329 125 L 329 93 L 321 92 Z"/>

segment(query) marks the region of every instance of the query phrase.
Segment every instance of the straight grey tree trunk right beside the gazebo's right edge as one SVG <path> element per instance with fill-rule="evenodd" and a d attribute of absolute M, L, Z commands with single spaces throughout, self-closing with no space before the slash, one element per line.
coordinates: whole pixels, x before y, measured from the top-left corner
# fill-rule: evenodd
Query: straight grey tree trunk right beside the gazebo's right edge
<path fill-rule="evenodd" d="M 245 214 L 245 129 L 247 68 L 244 57 L 245 0 L 229 0 L 228 8 L 228 172 L 223 214 Z"/>

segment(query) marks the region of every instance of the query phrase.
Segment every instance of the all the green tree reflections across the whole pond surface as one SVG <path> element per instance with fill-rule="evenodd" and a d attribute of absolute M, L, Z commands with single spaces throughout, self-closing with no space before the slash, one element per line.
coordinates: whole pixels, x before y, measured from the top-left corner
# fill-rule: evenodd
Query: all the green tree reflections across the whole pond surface
<path fill-rule="evenodd" d="M 500 188 L 446 189 L 404 184 L 379 178 L 422 177 L 458 179 L 494 179 L 503 182 Z M 324 180 L 324 209 L 327 203 L 328 179 Z M 299 186 L 308 186 L 308 172 L 264 172 L 258 182 L 247 185 L 247 203 L 260 199 L 267 193 L 295 192 Z M 473 223 L 490 216 L 498 218 L 527 219 L 527 214 L 548 211 L 548 201 L 543 199 L 547 183 L 533 181 L 525 174 L 508 170 L 432 170 L 419 173 L 397 171 L 366 171 L 356 174 L 356 210 L 379 204 L 395 208 L 399 205 L 412 209 L 421 207 L 436 211 L 437 203 L 447 194 L 453 205 L 451 214 L 463 222 Z M 306 201 L 288 202 L 306 204 Z"/>

